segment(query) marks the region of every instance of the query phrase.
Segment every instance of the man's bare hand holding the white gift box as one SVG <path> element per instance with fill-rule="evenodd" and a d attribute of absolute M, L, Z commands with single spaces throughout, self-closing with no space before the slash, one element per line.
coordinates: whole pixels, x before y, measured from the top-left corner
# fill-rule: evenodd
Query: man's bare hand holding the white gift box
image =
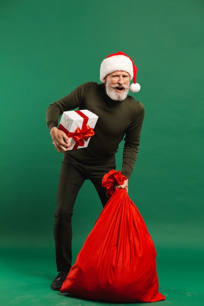
<path fill-rule="evenodd" d="M 58 152 L 64 153 L 69 150 L 71 143 L 69 142 L 68 136 L 65 132 L 53 127 L 50 130 L 50 136 L 52 137 L 53 145 Z"/>

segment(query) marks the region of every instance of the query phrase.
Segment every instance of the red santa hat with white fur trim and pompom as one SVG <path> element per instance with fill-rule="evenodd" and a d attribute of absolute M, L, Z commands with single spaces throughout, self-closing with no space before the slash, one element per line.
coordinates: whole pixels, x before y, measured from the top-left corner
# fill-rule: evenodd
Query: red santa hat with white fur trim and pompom
<path fill-rule="evenodd" d="M 131 80 L 133 79 L 133 84 L 130 86 L 132 92 L 138 92 L 140 90 L 140 85 L 136 83 L 136 72 L 137 67 L 135 66 L 133 60 L 122 51 L 108 55 L 100 66 L 100 81 L 104 82 L 104 78 L 114 71 L 126 71 L 130 74 Z"/>

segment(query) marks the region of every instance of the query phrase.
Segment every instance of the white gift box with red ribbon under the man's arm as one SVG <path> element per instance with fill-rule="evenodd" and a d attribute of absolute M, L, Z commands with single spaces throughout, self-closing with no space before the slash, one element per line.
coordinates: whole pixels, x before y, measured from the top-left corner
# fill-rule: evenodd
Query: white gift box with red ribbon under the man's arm
<path fill-rule="evenodd" d="M 58 129 L 64 131 L 72 143 L 69 150 L 86 148 L 94 135 L 98 116 L 88 109 L 64 111 Z"/>

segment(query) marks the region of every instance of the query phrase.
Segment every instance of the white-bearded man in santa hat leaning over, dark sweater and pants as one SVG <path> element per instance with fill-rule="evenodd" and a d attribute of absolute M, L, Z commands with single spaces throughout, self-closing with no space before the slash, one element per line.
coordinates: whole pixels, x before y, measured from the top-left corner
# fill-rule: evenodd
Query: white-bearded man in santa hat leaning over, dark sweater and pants
<path fill-rule="evenodd" d="M 60 172 L 54 238 L 58 276 L 51 284 L 60 290 L 71 268 L 71 218 L 77 194 L 90 179 L 100 197 L 103 207 L 108 201 L 102 177 L 115 169 L 115 153 L 124 138 L 123 165 L 121 173 L 127 177 L 123 185 L 128 191 L 130 178 L 136 162 L 144 107 L 128 95 L 140 89 L 136 83 L 137 68 L 133 60 L 119 51 L 105 58 L 100 66 L 100 81 L 85 83 L 61 100 L 51 104 L 46 111 L 46 122 L 56 150 L 64 154 Z M 130 81 L 134 83 L 130 86 Z M 68 136 L 57 128 L 60 115 L 71 109 L 89 109 L 99 118 L 87 148 L 70 150 Z M 85 199 L 86 201 L 87 199 Z"/>

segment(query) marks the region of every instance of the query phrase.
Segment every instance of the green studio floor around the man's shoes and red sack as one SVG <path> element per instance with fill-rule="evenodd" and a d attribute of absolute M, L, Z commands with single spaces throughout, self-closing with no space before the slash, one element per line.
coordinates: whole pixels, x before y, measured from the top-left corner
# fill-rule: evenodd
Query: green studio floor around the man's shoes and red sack
<path fill-rule="evenodd" d="M 203 306 L 204 262 L 199 250 L 159 249 L 159 291 L 166 300 L 154 306 Z M 0 248 L 0 305 L 94 306 L 115 305 L 76 299 L 50 289 L 56 276 L 51 247 Z M 151 304 L 120 304 L 151 305 Z"/>

